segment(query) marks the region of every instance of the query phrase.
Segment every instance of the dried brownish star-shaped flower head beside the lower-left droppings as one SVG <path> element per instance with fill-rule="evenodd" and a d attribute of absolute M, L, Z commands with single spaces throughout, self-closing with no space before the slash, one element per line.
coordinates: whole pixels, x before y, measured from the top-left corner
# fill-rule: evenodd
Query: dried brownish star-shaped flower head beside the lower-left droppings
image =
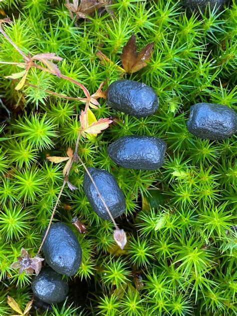
<path fill-rule="evenodd" d="M 27 274 L 33 274 L 33 272 L 35 271 L 36 275 L 38 275 L 38 273 L 40 272 L 42 261 L 44 260 L 39 256 L 31 258 L 30 254 L 28 254 L 28 251 L 26 251 L 24 248 L 21 248 L 20 256 L 18 256 L 17 259 L 18 260 L 16 262 L 13 262 L 10 265 L 12 269 L 19 268 L 19 273 L 25 271 L 25 273 Z"/>

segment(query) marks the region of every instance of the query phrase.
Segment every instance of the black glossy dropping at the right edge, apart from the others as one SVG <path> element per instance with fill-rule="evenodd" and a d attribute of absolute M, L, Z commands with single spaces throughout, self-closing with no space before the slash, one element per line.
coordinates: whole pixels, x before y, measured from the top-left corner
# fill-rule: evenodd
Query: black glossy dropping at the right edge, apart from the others
<path fill-rule="evenodd" d="M 226 105 L 196 103 L 190 108 L 187 129 L 199 138 L 223 139 L 236 132 L 237 115 Z"/>

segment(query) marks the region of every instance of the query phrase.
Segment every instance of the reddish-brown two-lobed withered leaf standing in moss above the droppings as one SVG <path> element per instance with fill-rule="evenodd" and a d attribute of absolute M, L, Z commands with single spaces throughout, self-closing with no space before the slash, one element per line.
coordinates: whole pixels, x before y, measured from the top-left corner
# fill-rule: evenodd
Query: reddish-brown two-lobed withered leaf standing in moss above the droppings
<path fill-rule="evenodd" d="M 120 55 L 122 66 L 128 73 L 136 72 L 147 65 L 152 53 L 154 43 L 148 43 L 137 53 L 136 36 L 134 34 L 128 39 Z"/>

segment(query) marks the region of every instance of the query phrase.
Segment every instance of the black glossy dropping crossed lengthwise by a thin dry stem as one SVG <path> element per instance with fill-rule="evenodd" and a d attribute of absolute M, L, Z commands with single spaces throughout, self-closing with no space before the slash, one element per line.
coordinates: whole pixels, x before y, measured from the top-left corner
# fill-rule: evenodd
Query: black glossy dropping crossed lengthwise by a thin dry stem
<path fill-rule="evenodd" d="M 125 211 L 126 204 L 124 195 L 114 176 L 104 169 L 89 167 L 88 171 L 108 206 L 112 217 L 116 218 L 120 216 Z M 110 217 L 87 173 L 84 174 L 83 189 L 96 214 L 103 219 L 109 220 Z"/>

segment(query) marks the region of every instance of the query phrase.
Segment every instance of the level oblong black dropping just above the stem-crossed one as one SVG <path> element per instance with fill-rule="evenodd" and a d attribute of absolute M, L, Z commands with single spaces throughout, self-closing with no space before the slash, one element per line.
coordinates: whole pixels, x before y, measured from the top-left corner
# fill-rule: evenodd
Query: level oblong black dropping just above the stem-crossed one
<path fill-rule="evenodd" d="M 123 136 L 107 148 L 109 157 L 124 168 L 154 170 L 161 167 L 166 143 L 154 136 Z"/>

